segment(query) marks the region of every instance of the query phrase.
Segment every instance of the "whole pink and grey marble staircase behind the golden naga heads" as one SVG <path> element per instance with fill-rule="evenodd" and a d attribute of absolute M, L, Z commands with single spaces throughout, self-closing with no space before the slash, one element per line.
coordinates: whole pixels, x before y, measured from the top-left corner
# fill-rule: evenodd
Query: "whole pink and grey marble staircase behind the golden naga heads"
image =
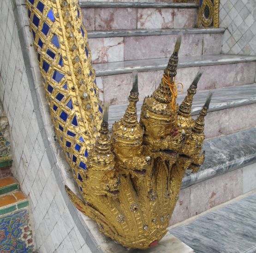
<path fill-rule="evenodd" d="M 170 224 L 256 188 L 256 56 L 221 54 L 225 28 L 197 29 L 197 5 L 166 2 L 79 1 L 88 30 L 96 81 L 110 103 L 110 130 L 124 114 L 132 71 L 138 71 L 140 101 L 161 81 L 177 35 L 183 41 L 177 82 L 184 86 L 178 103 L 198 70 L 203 71 L 192 115 L 202 108 L 208 91 L 214 95 L 205 122 L 206 160 L 187 173 Z"/>

